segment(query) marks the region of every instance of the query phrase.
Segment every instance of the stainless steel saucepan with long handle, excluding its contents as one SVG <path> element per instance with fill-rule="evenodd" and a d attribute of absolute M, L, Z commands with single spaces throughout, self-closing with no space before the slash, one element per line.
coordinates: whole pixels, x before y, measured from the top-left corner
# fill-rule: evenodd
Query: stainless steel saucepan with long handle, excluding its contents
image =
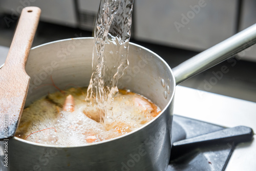
<path fill-rule="evenodd" d="M 154 52 L 130 43 L 129 67 L 119 88 L 155 102 L 162 112 L 129 134 L 82 146 L 55 146 L 17 137 L 8 141 L 10 170 L 165 170 L 170 158 L 175 86 L 253 45 L 256 25 L 181 63 L 173 70 Z M 74 38 L 32 48 L 26 71 L 31 77 L 26 105 L 55 92 L 88 86 L 92 73 L 93 38 Z M 113 59 L 115 56 L 113 56 Z M 67 135 L 68 136 L 68 135 Z M 2 142 L 3 145 L 4 142 Z M 2 155 L 2 154 L 1 154 Z"/>

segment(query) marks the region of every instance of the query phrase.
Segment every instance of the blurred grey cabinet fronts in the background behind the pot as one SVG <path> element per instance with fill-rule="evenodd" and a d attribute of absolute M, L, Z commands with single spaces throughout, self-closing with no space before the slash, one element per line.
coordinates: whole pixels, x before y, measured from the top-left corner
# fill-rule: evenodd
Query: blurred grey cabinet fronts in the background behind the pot
<path fill-rule="evenodd" d="M 254 0 L 135 0 L 133 38 L 202 51 L 256 23 Z M 23 7 L 42 9 L 41 20 L 93 31 L 99 0 L 0 0 L 8 24 Z M 256 61 L 256 48 L 243 55 Z"/>

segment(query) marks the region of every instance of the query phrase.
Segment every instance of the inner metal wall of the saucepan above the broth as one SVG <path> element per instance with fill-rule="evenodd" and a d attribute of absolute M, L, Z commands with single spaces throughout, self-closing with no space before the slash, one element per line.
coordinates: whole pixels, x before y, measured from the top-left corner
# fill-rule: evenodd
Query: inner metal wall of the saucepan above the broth
<path fill-rule="evenodd" d="M 92 74 L 93 38 L 65 39 L 50 42 L 30 51 L 26 72 L 31 77 L 25 106 L 34 100 L 71 87 L 88 87 Z M 106 46 L 109 52 L 111 46 Z M 111 55 L 113 60 L 116 57 Z M 118 88 L 139 93 L 161 110 L 172 100 L 175 81 L 172 71 L 158 55 L 131 44 L 129 67 L 118 82 Z M 52 79 L 51 79 L 52 78 Z"/>

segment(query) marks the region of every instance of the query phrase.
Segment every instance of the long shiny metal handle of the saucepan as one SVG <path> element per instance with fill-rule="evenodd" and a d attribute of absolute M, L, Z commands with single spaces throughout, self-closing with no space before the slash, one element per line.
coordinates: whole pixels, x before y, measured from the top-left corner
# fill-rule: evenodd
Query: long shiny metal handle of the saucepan
<path fill-rule="evenodd" d="M 193 77 L 256 43 L 256 24 L 173 68 L 176 84 Z"/>

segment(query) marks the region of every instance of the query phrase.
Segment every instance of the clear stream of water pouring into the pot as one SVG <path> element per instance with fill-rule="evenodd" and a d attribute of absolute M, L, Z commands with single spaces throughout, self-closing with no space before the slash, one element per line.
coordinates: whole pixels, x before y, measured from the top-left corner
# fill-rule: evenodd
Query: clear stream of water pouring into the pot
<path fill-rule="evenodd" d="M 94 30 L 93 73 L 87 101 L 95 104 L 101 121 L 113 122 L 118 79 L 129 65 L 133 0 L 101 0 Z"/>

